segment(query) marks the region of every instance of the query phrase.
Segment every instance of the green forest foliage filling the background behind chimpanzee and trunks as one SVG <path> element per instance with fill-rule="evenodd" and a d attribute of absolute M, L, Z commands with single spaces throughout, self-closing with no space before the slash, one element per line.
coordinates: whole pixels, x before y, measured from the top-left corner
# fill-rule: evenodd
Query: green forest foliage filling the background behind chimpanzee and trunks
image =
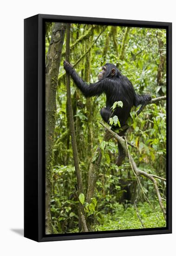
<path fill-rule="evenodd" d="M 52 24 L 46 27 L 46 54 L 51 40 Z M 85 54 L 85 49 L 97 39 L 102 26 L 95 25 L 88 37 L 84 35 L 91 25 L 72 24 L 71 26 L 71 56 L 74 64 Z M 104 26 L 103 26 L 104 28 Z M 84 78 L 85 71 L 90 82 L 97 81 L 98 69 L 111 62 L 117 65 L 122 74 L 132 82 L 138 94 L 150 93 L 152 97 L 166 94 L 166 65 L 162 70 L 163 84 L 157 84 L 160 54 L 158 40 L 163 41 L 161 49 L 166 59 L 166 30 L 156 28 L 131 27 L 125 46 L 122 47 L 126 27 L 117 27 L 117 32 L 111 26 L 93 45 L 90 51 L 90 63 L 85 57 L 76 65 L 78 74 Z M 112 34 L 116 33 L 116 34 Z M 108 39 L 107 39 L 108 38 Z M 78 39 L 81 39 L 78 42 Z M 114 41 L 114 39 L 116 41 Z M 78 42 L 75 44 L 75 42 Z M 74 45 L 75 44 L 75 45 Z M 73 47 L 74 46 L 74 47 Z M 120 60 L 121 51 L 124 57 Z M 104 52 L 104 56 L 103 56 Z M 65 42 L 63 47 L 65 53 Z M 63 54 L 59 75 L 65 73 L 63 68 Z M 164 59 L 164 60 L 165 60 Z M 85 65 L 86 63 L 86 65 Z M 89 65 L 88 65 L 89 64 Z M 89 67 L 90 66 L 90 67 Z M 86 70 L 85 70 L 86 67 Z M 89 70 L 88 70 L 89 68 Z M 85 99 L 71 80 L 72 109 L 75 124 L 75 133 L 78 145 L 79 163 L 81 168 L 83 191 L 78 195 L 78 184 L 75 174 L 72 155 L 72 141 L 68 124 L 66 109 L 65 76 L 59 80 L 56 98 L 56 126 L 53 140 L 53 171 L 52 171 L 52 200 L 51 216 L 55 233 L 78 232 L 78 206 L 81 202 L 86 220 L 93 230 L 120 230 L 140 229 L 142 225 L 134 209 L 134 199 L 138 188 L 136 178 L 131 171 L 130 163 L 126 158 L 121 167 L 117 167 L 118 147 L 115 140 L 103 140 L 104 128 L 99 121 L 99 111 L 105 106 L 105 95 L 98 98 Z M 116 108 L 124 108 L 125 102 L 114 102 L 111 112 Z M 158 176 L 166 176 L 166 102 L 157 105 L 150 104 L 136 115 L 137 108 L 131 109 L 128 125 L 127 140 L 137 147 L 130 148 L 137 167 Z M 117 115 L 110 117 L 110 125 L 118 125 Z M 99 145 L 99 148 L 98 148 Z M 98 149 L 97 149 L 98 148 Z M 96 182 L 95 193 L 91 202 L 86 202 L 88 187 L 88 172 L 91 163 L 98 160 L 99 152 L 102 154 L 100 172 Z M 92 176 L 94 173 L 92 174 Z M 143 195 L 138 196 L 137 208 L 145 228 L 165 227 L 161 209 L 158 206 L 153 184 L 141 177 L 143 189 L 152 203 L 155 211 L 145 202 Z M 166 182 L 157 180 L 160 193 L 166 198 Z"/>

